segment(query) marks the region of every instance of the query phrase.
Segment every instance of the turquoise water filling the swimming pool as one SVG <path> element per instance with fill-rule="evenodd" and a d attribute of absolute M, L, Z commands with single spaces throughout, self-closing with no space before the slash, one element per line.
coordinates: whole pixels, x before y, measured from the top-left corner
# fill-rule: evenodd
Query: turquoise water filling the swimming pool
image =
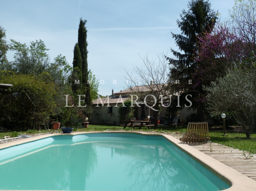
<path fill-rule="evenodd" d="M 229 188 L 159 136 L 53 136 L 0 150 L 0 189 L 175 190 Z"/>

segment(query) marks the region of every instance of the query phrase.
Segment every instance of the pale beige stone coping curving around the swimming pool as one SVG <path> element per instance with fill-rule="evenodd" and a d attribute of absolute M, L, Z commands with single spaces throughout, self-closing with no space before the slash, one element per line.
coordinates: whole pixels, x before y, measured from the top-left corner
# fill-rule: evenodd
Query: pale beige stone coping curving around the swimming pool
<path fill-rule="evenodd" d="M 220 161 L 202 153 L 201 151 L 198 151 L 197 149 L 195 149 L 189 145 L 180 144 L 181 142 L 178 139 L 174 138 L 171 135 L 165 135 L 165 134 L 152 134 L 152 133 L 144 133 L 144 132 L 127 132 L 127 131 L 91 131 L 91 132 L 76 132 L 76 133 L 70 133 L 70 134 L 64 134 L 64 133 L 45 134 L 45 135 L 39 135 L 36 137 L 27 138 L 24 140 L 3 143 L 0 145 L 0 149 L 27 143 L 30 141 L 35 141 L 38 139 L 52 137 L 52 136 L 56 136 L 56 135 L 69 136 L 69 135 L 88 134 L 88 133 L 133 133 L 133 134 L 141 134 L 141 135 L 146 135 L 146 136 L 163 137 L 166 140 L 170 141 L 172 144 L 174 144 L 176 147 L 178 147 L 180 150 L 182 150 L 184 153 L 186 153 L 188 156 L 190 156 L 191 158 L 196 160 L 200 165 L 204 166 L 206 169 L 211 171 L 218 178 L 220 178 L 221 180 L 223 180 L 224 182 L 229 184 L 231 187 L 226 190 L 228 190 L 228 191 L 241 191 L 241 190 L 256 191 L 256 181 L 252 180 L 251 178 L 247 177 L 246 175 L 243 175 L 242 173 L 238 172 L 237 170 L 221 163 Z M 4 190 L 1 190 L 1 191 L 4 191 Z M 19 190 L 19 191 L 21 191 L 21 190 Z"/>

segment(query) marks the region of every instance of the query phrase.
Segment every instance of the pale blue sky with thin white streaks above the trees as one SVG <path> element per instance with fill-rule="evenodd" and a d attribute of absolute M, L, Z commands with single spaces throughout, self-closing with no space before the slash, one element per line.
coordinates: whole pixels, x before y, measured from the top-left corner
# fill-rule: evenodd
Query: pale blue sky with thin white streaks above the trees
<path fill-rule="evenodd" d="M 221 19 L 234 6 L 234 0 L 210 2 Z M 79 19 L 86 19 L 88 69 L 100 82 L 98 93 L 106 96 L 112 89 L 127 88 L 125 70 L 142 65 L 144 55 L 155 59 L 163 52 L 171 57 L 170 48 L 178 50 L 170 32 L 180 33 L 176 20 L 187 4 L 188 0 L 1 0 L 0 26 L 9 42 L 29 45 L 41 39 L 50 49 L 51 60 L 62 54 L 72 66 Z M 7 59 L 13 60 L 12 51 Z"/>

